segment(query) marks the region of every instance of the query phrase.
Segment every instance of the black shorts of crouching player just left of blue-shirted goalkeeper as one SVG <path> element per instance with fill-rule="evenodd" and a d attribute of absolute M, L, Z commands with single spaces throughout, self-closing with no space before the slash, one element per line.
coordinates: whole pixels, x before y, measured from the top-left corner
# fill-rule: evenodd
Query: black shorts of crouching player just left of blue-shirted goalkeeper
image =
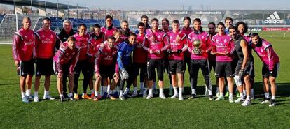
<path fill-rule="evenodd" d="M 110 79 L 113 79 L 113 75 L 115 74 L 115 64 L 110 66 L 99 66 L 99 75 L 101 77 L 106 78 L 109 77 Z"/>

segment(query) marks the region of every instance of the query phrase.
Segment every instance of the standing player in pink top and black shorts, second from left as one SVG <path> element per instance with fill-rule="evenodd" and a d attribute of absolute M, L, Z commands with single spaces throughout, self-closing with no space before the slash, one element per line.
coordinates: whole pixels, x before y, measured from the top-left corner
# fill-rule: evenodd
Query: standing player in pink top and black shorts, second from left
<path fill-rule="evenodd" d="M 50 76 L 54 74 L 53 70 L 53 56 L 55 55 L 55 42 L 57 40 L 56 33 L 50 30 L 50 19 L 43 18 L 42 28 L 35 32 L 35 64 L 36 64 L 36 77 L 34 82 L 34 102 L 39 101 L 39 85 L 41 75 L 45 75 L 44 81 L 44 96 L 43 99 L 54 100 L 49 94 Z"/>

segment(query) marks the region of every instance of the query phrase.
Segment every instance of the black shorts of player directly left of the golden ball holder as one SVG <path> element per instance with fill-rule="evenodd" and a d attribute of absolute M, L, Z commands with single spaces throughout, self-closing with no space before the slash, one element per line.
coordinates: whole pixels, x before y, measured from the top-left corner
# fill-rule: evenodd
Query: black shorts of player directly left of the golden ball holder
<path fill-rule="evenodd" d="M 175 75 L 176 73 L 184 73 L 184 61 L 170 60 L 169 65 L 171 75 Z"/>

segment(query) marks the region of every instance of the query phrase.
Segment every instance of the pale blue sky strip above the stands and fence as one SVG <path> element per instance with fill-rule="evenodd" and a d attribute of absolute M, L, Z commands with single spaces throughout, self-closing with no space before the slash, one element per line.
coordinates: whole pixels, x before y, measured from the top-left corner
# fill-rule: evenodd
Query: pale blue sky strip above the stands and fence
<path fill-rule="evenodd" d="M 44 0 L 43 0 L 44 1 Z M 47 0 L 57 2 L 57 0 Z M 60 3 L 71 3 L 88 8 L 113 10 L 290 10 L 289 0 L 59 0 Z"/>

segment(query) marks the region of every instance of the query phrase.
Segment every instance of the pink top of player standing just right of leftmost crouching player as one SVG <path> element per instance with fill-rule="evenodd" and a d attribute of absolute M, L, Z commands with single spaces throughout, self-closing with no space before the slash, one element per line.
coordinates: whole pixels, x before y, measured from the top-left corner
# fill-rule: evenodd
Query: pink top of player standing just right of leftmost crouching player
<path fill-rule="evenodd" d="M 74 38 L 76 38 L 76 46 L 80 49 L 80 55 L 78 56 L 78 61 L 82 61 L 88 59 L 88 39 L 90 35 L 85 33 L 85 35 L 80 36 L 78 33 L 74 34 Z"/>

